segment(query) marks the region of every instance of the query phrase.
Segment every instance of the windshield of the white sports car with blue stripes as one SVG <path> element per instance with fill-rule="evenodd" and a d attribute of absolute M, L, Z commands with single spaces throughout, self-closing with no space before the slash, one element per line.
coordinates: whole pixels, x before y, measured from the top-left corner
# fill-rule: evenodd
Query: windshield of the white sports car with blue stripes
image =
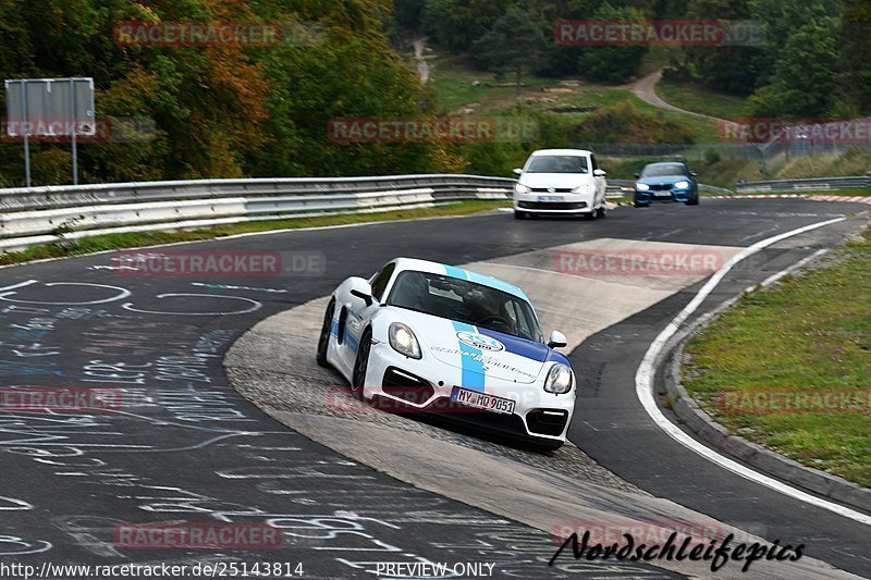
<path fill-rule="evenodd" d="M 396 277 L 387 304 L 543 342 L 538 319 L 529 303 L 466 280 L 405 271 Z"/>

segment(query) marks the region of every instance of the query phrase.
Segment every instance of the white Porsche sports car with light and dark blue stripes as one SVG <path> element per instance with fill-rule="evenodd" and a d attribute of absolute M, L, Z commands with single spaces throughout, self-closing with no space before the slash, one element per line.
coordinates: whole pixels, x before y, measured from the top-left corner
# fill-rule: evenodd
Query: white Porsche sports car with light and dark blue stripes
<path fill-rule="evenodd" d="M 335 289 L 317 360 L 365 400 L 437 411 L 556 449 L 575 408 L 572 363 L 553 350 L 565 345 L 559 332 L 544 342 L 519 288 L 398 258 Z"/>

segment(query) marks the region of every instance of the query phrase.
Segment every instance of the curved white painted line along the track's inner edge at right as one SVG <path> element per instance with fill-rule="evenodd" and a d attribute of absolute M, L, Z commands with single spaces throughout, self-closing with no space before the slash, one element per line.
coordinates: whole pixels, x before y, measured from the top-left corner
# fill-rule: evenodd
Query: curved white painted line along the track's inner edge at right
<path fill-rule="evenodd" d="M 764 485 L 770 488 L 776 492 L 780 492 L 784 495 L 788 495 L 789 497 L 794 497 L 807 504 L 821 507 L 823 509 L 827 509 L 834 514 L 839 516 L 844 516 L 845 518 L 849 518 L 851 520 L 858 521 L 860 523 L 864 523 L 866 526 L 871 526 L 871 516 L 867 516 L 854 509 L 844 507 L 842 505 L 835 504 L 833 502 L 829 502 L 826 499 L 822 499 L 814 495 L 811 495 L 807 492 L 802 492 L 792 485 L 787 485 L 781 481 L 775 480 L 769 476 L 755 471 L 748 467 L 743 466 L 741 464 L 729 459 L 723 455 L 720 455 L 717 452 L 702 445 L 698 441 L 694 440 L 686 433 L 684 433 L 680 429 L 677 428 L 674 423 L 672 423 L 657 407 L 657 402 L 653 399 L 653 378 L 655 374 L 655 361 L 659 356 L 662 354 L 665 344 L 667 341 L 674 336 L 680 324 L 683 324 L 691 314 L 695 312 L 699 306 L 704 301 L 704 299 L 713 292 L 713 289 L 720 284 L 723 277 L 728 273 L 732 268 L 752 256 L 753 254 L 771 246 L 772 244 L 776 244 L 782 239 L 786 239 L 788 237 L 793 237 L 799 234 L 803 234 L 805 232 L 810 232 L 811 230 L 815 230 L 818 227 L 823 227 L 825 225 L 831 225 L 833 223 L 842 222 L 846 218 L 837 218 L 834 220 L 829 220 L 825 222 L 820 222 L 811 225 L 806 225 L 805 227 L 799 227 L 798 230 L 793 230 L 792 232 L 786 232 L 780 234 L 774 237 L 770 237 L 768 239 L 763 239 L 761 242 L 757 242 L 752 246 L 749 246 L 741 250 L 739 254 L 734 256 L 728 262 L 723 264 L 711 280 L 709 280 L 704 286 L 699 291 L 696 297 L 686 306 L 684 309 L 668 323 L 668 325 L 657 336 L 653 343 L 648 348 L 648 351 L 645 354 L 643 360 L 641 360 L 641 365 L 638 367 L 638 371 L 635 374 L 635 392 L 638 396 L 638 400 L 641 402 L 641 405 L 645 407 L 645 410 L 650 416 L 651 419 L 662 429 L 665 433 L 668 434 L 672 439 L 684 445 L 685 447 L 696 452 L 697 454 L 701 455 L 709 461 L 712 461 L 720 467 L 732 471 L 745 479 L 759 483 L 760 485 Z M 790 268 L 786 269 L 787 271 Z M 775 274 L 776 276 L 777 274 Z M 772 276 L 773 277 L 773 276 Z M 771 280 L 771 279 L 769 279 Z"/>

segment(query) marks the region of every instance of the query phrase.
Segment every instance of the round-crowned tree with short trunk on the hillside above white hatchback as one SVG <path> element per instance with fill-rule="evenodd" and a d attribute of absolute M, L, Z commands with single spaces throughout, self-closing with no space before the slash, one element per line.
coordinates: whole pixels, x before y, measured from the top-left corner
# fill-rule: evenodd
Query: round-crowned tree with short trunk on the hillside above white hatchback
<path fill-rule="evenodd" d="M 535 66 L 547 49 L 545 28 L 538 12 L 511 5 L 475 42 L 481 61 L 491 71 L 514 73 L 517 99 L 523 92 L 524 71 Z"/>

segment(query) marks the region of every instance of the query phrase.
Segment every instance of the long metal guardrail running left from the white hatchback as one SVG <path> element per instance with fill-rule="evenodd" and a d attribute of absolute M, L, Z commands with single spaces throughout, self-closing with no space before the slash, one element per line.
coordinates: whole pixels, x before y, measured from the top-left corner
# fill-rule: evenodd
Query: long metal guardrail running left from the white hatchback
<path fill-rule="evenodd" d="M 515 183 L 477 175 L 393 175 L 0 189 L 0 251 L 108 233 L 506 199 Z"/>

